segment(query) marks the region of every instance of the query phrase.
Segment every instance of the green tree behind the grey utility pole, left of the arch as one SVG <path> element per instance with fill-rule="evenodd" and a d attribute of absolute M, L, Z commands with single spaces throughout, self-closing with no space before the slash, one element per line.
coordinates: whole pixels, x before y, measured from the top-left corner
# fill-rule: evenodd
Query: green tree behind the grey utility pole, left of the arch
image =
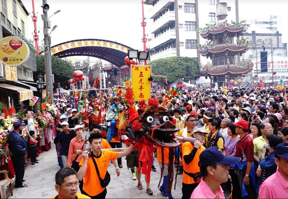
<path fill-rule="evenodd" d="M 55 56 L 51 56 L 51 62 L 52 62 L 52 73 L 54 74 L 54 80 L 57 84 L 60 82 L 60 84 L 67 84 L 69 79 L 72 79 L 72 73 L 75 70 L 74 67 L 67 61 L 60 59 Z M 39 73 L 42 75 L 45 74 L 45 58 L 44 55 L 40 54 L 36 56 L 36 65 L 37 65 L 37 71 L 33 72 L 33 77 L 36 80 Z"/>

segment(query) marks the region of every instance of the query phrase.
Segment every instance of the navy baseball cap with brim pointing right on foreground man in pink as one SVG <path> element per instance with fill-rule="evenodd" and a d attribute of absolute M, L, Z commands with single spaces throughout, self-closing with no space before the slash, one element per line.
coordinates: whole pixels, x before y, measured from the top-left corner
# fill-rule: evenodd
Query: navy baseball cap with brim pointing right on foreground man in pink
<path fill-rule="evenodd" d="M 210 148 L 206 148 L 201 154 L 199 158 L 199 167 L 206 166 L 209 164 L 236 164 L 239 162 L 241 158 L 239 157 L 229 157 L 224 156 L 218 146 L 213 146 Z"/>

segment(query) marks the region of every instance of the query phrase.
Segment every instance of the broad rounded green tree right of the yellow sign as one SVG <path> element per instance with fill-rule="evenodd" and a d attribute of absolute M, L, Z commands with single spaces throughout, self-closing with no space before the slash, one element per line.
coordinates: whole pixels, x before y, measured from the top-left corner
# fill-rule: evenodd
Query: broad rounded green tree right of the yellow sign
<path fill-rule="evenodd" d="M 199 65 L 191 57 L 167 57 L 153 60 L 149 63 L 155 75 L 167 75 L 169 83 L 184 81 L 199 77 Z"/>

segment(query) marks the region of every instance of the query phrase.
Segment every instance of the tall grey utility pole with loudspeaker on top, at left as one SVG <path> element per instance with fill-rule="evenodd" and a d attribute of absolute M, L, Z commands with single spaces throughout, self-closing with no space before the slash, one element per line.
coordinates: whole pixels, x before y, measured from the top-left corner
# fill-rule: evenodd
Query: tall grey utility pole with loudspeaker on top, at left
<path fill-rule="evenodd" d="M 43 0 L 43 5 L 47 4 L 47 0 Z M 51 103 L 54 103 L 53 98 L 53 78 L 52 78 L 52 66 L 51 66 L 51 51 L 50 51 L 50 45 L 51 45 L 51 37 L 49 36 L 49 30 L 48 28 L 51 28 L 50 21 L 48 21 L 48 8 L 45 10 L 43 7 L 43 15 L 41 15 L 42 20 L 44 22 L 44 54 L 45 54 L 45 78 L 46 78 L 46 93 L 47 96 L 50 95 Z"/>

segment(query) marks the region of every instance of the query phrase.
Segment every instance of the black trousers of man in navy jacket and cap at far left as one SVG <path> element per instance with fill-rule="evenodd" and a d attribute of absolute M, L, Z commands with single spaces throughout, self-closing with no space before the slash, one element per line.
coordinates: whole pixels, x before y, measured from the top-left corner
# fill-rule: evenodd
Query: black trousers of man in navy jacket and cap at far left
<path fill-rule="evenodd" d="M 12 162 L 15 170 L 15 186 L 21 186 L 25 172 L 24 156 L 12 156 Z"/>

